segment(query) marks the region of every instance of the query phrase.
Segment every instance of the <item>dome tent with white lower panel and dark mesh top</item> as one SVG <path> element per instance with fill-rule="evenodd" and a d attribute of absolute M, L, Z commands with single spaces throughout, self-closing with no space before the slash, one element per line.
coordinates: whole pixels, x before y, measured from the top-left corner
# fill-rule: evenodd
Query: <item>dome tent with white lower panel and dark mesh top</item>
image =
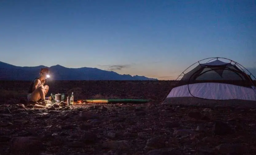
<path fill-rule="evenodd" d="M 202 63 L 203 61 L 206 62 Z M 197 63 L 195 68 L 185 73 Z M 162 105 L 256 107 L 253 81 L 256 78 L 233 60 L 220 57 L 203 59 L 188 67 L 176 80 L 181 76 L 183 77 L 177 81 Z"/>

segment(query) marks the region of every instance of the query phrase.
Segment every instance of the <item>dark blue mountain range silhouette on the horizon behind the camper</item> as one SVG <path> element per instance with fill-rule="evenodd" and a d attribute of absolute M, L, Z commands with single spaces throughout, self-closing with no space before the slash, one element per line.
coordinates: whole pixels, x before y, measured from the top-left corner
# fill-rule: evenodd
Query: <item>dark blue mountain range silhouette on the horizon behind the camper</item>
<path fill-rule="evenodd" d="M 61 65 L 51 67 L 20 67 L 0 61 L 0 80 L 32 80 L 38 76 L 41 68 L 49 68 L 49 80 L 158 80 L 145 76 L 120 75 L 113 71 L 98 68 L 66 68 Z"/>

